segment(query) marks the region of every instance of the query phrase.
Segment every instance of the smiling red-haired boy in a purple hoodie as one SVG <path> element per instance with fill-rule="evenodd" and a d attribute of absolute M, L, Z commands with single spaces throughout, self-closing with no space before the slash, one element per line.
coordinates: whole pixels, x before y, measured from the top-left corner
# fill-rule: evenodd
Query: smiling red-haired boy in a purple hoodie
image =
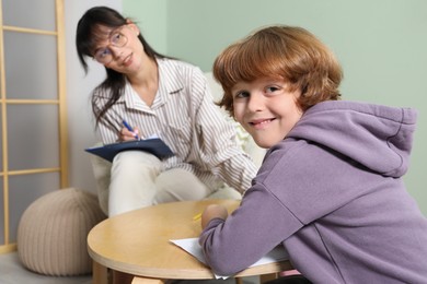
<path fill-rule="evenodd" d="M 280 245 L 313 283 L 427 283 L 427 221 L 402 180 L 415 110 L 339 100 L 339 63 L 299 27 L 228 47 L 214 74 L 219 105 L 269 149 L 233 214 L 203 213 L 199 242 L 216 273 Z"/>

